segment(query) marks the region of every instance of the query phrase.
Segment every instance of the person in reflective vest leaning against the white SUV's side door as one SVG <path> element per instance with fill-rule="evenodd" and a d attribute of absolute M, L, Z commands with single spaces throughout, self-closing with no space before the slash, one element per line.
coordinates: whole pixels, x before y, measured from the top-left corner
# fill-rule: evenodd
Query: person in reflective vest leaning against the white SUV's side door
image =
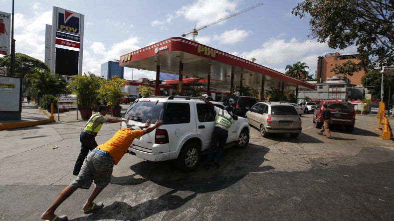
<path fill-rule="evenodd" d="M 208 158 L 206 161 L 206 166 L 205 169 L 209 170 L 210 164 L 213 161 L 215 166 L 219 167 L 219 160 L 221 157 L 221 154 L 223 153 L 224 149 L 224 144 L 226 143 L 227 137 L 228 137 L 228 128 L 231 127 L 231 124 L 234 122 L 234 119 L 232 115 L 232 107 L 226 106 L 224 107 L 224 110 L 214 106 L 212 103 L 207 101 L 203 97 L 199 97 L 199 99 L 205 104 L 208 105 L 208 108 L 212 112 L 212 115 L 215 116 L 215 127 L 213 129 L 212 133 L 212 141 L 211 141 L 211 146 L 208 152 Z M 219 144 L 219 145 L 217 145 Z M 215 155 L 215 151 L 217 150 L 217 153 Z"/>

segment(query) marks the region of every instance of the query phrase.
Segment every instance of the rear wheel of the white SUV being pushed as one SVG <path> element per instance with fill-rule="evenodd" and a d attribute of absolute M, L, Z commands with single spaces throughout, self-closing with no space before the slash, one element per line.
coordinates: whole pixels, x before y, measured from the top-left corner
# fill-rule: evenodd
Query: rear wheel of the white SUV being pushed
<path fill-rule="evenodd" d="M 178 158 L 177 167 L 183 172 L 191 172 L 197 168 L 200 162 L 200 147 L 195 142 L 187 142 L 182 147 Z"/>

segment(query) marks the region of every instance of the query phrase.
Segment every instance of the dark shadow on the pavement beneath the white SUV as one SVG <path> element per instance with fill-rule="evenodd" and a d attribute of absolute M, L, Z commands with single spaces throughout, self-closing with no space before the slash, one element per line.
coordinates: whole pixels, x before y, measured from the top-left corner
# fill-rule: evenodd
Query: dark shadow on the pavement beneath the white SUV
<path fill-rule="evenodd" d="M 268 151 L 269 148 L 252 144 L 244 149 L 227 148 L 224 150 L 219 168 L 212 166 L 210 170 L 206 171 L 204 169 L 206 156 L 202 156 L 200 165 L 190 173 L 179 171 L 172 161 L 143 161 L 130 167 L 135 174 L 114 177 L 111 183 L 137 185 L 151 181 L 173 190 L 196 193 L 218 191 L 230 187 L 249 173 L 275 169 L 272 166 L 261 166 L 266 160 L 264 156 Z M 140 175 L 142 178 L 135 179 L 135 175 Z"/>

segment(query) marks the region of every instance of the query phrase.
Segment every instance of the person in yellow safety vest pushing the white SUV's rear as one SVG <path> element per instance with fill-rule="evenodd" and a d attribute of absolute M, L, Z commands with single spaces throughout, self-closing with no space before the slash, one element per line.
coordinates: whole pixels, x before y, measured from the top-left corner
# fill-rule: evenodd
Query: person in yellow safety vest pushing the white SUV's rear
<path fill-rule="evenodd" d="M 79 136 L 79 141 L 81 141 L 81 152 L 78 155 L 77 161 L 75 162 L 74 170 L 72 172 L 73 175 L 77 176 L 79 171 L 81 170 L 83 161 L 85 157 L 88 155 L 89 150 L 92 151 L 94 148 L 97 147 L 96 142 L 96 135 L 98 131 L 103 126 L 103 123 L 117 123 L 122 121 L 128 121 L 127 119 L 111 119 L 106 118 L 107 115 L 107 106 L 100 105 L 98 108 L 98 112 L 93 114 L 88 122 L 86 123 L 85 127 L 83 128 L 81 135 Z"/>

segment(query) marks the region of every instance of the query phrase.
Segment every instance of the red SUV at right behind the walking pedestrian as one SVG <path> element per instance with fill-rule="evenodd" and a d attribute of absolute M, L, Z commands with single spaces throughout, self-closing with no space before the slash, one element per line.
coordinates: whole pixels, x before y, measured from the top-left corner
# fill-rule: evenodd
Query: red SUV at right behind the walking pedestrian
<path fill-rule="evenodd" d="M 356 111 L 349 102 L 333 102 L 323 101 L 313 113 L 313 123 L 316 123 L 316 128 L 322 128 L 323 119 L 316 120 L 323 112 L 323 105 L 327 105 L 327 109 L 331 111 L 333 118 L 332 125 L 345 126 L 346 131 L 352 132 L 356 121 Z"/>

